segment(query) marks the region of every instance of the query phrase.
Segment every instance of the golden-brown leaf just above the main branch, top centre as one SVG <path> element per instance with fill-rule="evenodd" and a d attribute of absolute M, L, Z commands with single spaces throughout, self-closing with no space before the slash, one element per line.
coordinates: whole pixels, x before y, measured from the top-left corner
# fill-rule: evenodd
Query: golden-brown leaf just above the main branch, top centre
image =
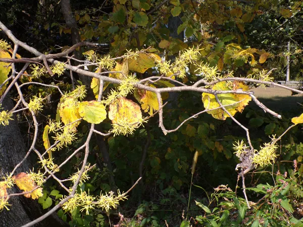
<path fill-rule="evenodd" d="M 128 69 L 138 73 L 155 66 L 155 62 L 160 62 L 161 58 L 155 53 L 139 53 L 136 57 L 128 59 Z"/>

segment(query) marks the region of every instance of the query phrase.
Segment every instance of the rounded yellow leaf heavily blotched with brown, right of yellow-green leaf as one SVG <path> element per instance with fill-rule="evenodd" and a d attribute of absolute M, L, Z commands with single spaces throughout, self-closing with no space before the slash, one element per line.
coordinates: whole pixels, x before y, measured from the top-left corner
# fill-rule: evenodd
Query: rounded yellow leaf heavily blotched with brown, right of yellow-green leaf
<path fill-rule="evenodd" d="M 140 106 L 132 100 L 121 97 L 110 104 L 109 119 L 113 124 L 136 124 L 142 120 Z"/>

